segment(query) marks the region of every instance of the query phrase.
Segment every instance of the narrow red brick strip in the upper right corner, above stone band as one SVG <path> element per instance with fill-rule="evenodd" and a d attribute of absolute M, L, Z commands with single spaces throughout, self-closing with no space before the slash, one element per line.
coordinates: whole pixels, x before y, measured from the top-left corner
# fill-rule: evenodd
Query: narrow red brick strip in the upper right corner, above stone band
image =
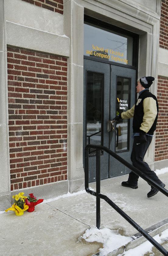
<path fill-rule="evenodd" d="M 168 0 L 161 2 L 159 46 L 168 50 Z"/>

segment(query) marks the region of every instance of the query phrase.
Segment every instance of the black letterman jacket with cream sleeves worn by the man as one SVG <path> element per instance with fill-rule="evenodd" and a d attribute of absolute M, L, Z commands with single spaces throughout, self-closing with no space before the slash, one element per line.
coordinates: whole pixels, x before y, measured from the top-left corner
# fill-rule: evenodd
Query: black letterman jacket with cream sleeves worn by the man
<path fill-rule="evenodd" d="M 133 117 L 133 132 L 144 131 L 149 135 L 153 135 L 156 130 L 158 112 L 156 96 L 149 90 L 144 90 L 139 95 L 135 105 L 126 112 L 121 113 L 121 117 L 122 119 Z"/>

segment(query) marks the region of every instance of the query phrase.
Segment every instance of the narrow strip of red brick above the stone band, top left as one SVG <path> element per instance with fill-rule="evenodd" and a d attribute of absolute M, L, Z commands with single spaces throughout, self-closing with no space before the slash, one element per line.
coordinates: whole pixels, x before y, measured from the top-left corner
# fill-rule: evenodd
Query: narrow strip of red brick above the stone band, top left
<path fill-rule="evenodd" d="M 22 0 L 50 11 L 63 14 L 63 0 Z"/>

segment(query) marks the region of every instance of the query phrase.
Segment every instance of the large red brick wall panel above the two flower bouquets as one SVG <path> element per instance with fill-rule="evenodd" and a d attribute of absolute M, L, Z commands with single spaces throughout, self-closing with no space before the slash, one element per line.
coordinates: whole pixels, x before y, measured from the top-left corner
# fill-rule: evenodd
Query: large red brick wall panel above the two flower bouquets
<path fill-rule="evenodd" d="M 67 180 L 67 58 L 7 56 L 11 190 Z"/>

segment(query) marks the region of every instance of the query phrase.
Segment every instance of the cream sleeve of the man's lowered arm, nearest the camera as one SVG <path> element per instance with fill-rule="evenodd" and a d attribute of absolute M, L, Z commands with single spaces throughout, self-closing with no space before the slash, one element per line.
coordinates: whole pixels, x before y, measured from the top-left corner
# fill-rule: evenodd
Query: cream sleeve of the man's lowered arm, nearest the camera
<path fill-rule="evenodd" d="M 155 118 L 157 116 L 156 100 L 154 100 L 154 98 L 152 97 L 145 98 L 143 100 L 143 109 L 144 109 L 144 116 L 143 116 L 143 122 L 141 124 L 140 130 L 147 133 L 152 127 L 152 124 L 154 123 Z"/>

